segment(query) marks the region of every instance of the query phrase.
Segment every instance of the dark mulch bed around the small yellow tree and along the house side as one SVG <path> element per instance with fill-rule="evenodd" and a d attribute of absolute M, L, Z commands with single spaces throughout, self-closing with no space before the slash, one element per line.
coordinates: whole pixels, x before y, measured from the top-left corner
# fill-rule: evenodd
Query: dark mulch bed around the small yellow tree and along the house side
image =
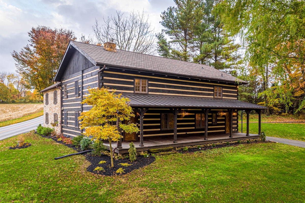
<path fill-rule="evenodd" d="M 51 138 L 51 136 L 45 136 L 45 135 L 41 135 L 41 137 Z M 66 144 L 63 141 L 57 141 L 57 138 L 52 138 L 52 139 L 55 142 L 66 145 L 67 147 L 70 147 L 77 152 L 82 152 L 83 151 L 83 150 L 81 150 L 81 148 L 77 148 L 74 145 Z M 104 175 L 104 176 L 120 175 L 120 173 L 118 173 L 118 174 L 115 173 L 119 168 L 123 168 L 124 173 L 122 173 L 122 174 L 126 174 L 126 173 L 129 173 L 129 172 L 133 171 L 133 170 L 136 170 L 136 169 L 142 168 L 144 166 L 147 166 L 147 165 L 149 165 L 149 164 L 151 164 L 152 162 L 155 161 L 155 157 L 153 157 L 153 156 L 150 156 L 149 158 L 144 158 L 143 156 L 138 155 L 137 159 L 134 162 L 130 162 L 129 158 L 113 160 L 113 166 L 114 167 L 110 168 L 110 166 L 111 166 L 110 156 L 107 156 L 107 155 L 91 156 L 90 152 L 89 153 L 84 153 L 83 155 L 91 163 L 91 165 L 88 166 L 87 171 L 89 171 L 91 173 L 95 173 L 95 174 Z M 100 161 L 106 161 L 106 163 L 99 164 Z M 121 165 L 119 165 L 119 163 L 128 163 L 128 164 L 132 164 L 132 165 L 131 166 L 121 166 Z M 97 166 L 104 168 L 104 170 L 93 171 Z"/>

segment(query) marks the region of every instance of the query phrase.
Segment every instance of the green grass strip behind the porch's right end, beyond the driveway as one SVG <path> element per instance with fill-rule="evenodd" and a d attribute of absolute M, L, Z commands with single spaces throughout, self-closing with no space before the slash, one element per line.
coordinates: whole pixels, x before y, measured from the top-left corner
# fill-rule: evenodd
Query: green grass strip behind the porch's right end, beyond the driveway
<path fill-rule="evenodd" d="M 247 124 L 239 123 L 239 131 L 246 133 Z M 299 123 L 262 123 L 261 130 L 266 133 L 266 136 L 286 138 L 292 140 L 305 141 L 305 124 Z M 258 133 L 258 123 L 249 124 L 249 133 Z"/>

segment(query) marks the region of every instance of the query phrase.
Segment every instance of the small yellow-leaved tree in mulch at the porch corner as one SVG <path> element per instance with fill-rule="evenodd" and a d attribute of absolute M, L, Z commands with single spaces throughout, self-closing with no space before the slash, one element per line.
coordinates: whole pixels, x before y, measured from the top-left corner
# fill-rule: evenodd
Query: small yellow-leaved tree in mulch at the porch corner
<path fill-rule="evenodd" d="M 81 113 L 78 117 L 81 129 L 85 129 L 83 135 L 92 136 L 91 140 L 108 140 L 111 154 L 111 167 L 113 167 L 113 156 L 111 142 L 118 141 L 122 135 L 117 128 L 117 120 L 119 127 L 126 133 L 138 132 L 137 124 L 127 123 L 130 117 L 134 117 L 130 100 L 124 98 L 122 94 L 116 94 L 116 90 L 109 88 L 88 88 L 88 95 L 83 98 L 82 104 L 91 105 L 89 111 Z"/>

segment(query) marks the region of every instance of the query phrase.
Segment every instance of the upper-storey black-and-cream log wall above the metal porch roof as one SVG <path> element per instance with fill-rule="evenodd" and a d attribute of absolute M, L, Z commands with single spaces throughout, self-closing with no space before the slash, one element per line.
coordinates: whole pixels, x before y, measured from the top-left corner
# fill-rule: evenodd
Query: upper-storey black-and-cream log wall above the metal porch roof
<path fill-rule="evenodd" d="M 214 86 L 222 87 L 222 99 L 237 100 L 237 85 L 226 82 L 189 79 L 185 77 L 152 74 L 109 68 L 104 70 L 103 84 L 117 92 L 133 94 L 134 79 L 148 80 L 148 95 L 196 96 L 213 99 Z"/>

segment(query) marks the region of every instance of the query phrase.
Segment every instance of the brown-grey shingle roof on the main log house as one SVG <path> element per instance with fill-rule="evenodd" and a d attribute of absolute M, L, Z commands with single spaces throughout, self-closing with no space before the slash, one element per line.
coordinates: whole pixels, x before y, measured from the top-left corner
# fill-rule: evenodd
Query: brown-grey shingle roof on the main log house
<path fill-rule="evenodd" d="M 117 49 L 117 52 L 106 51 L 102 46 L 70 41 L 84 51 L 97 64 L 106 64 L 138 70 L 154 71 L 188 77 L 205 78 L 226 82 L 241 82 L 232 75 L 221 72 L 208 65 L 179 61 L 169 58 L 140 54 Z"/>

